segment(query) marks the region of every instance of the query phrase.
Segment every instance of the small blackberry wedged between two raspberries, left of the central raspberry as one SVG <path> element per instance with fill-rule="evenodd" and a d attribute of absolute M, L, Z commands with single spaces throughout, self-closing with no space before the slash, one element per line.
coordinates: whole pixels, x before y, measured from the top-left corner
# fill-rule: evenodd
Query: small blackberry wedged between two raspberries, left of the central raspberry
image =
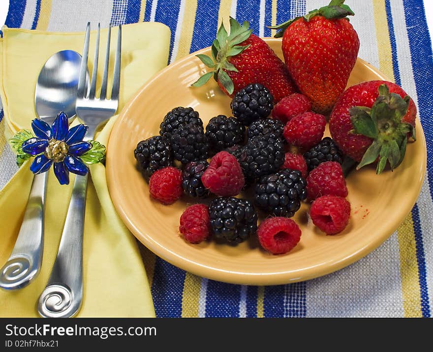
<path fill-rule="evenodd" d="M 182 188 L 190 197 L 206 198 L 210 192 L 201 182 L 201 175 L 208 168 L 207 161 L 188 162 L 182 171 Z"/>

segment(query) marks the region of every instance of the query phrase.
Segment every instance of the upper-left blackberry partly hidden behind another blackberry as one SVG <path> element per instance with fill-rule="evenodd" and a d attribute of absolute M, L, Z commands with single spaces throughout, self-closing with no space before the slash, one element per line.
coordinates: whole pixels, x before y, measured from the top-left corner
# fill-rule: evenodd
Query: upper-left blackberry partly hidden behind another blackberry
<path fill-rule="evenodd" d="M 203 127 L 203 121 L 198 117 L 198 112 L 193 108 L 174 108 L 167 112 L 159 125 L 159 135 L 170 141 L 173 133 L 179 127 L 185 126 L 188 123 Z"/>

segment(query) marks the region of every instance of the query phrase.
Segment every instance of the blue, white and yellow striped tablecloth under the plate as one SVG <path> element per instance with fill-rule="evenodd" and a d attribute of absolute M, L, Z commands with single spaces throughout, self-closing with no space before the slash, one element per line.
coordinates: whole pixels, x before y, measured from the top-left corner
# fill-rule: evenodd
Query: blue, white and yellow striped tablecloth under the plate
<path fill-rule="evenodd" d="M 169 63 L 211 45 L 222 18 L 247 20 L 253 33 L 327 0 L 11 0 L 8 27 L 82 31 L 158 21 L 171 29 Z M 347 0 L 359 56 L 414 99 L 427 140 L 427 175 L 400 228 L 353 265 L 306 282 L 231 285 L 197 277 L 142 248 L 158 317 L 430 317 L 433 307 L 433 62 L 422 0 Z M 0 188 L 16 171 L 0 112 Z M 404 202 L 396 194 L 396 202 Z M 392 214 L 390 214 L 392 216 Z"/>

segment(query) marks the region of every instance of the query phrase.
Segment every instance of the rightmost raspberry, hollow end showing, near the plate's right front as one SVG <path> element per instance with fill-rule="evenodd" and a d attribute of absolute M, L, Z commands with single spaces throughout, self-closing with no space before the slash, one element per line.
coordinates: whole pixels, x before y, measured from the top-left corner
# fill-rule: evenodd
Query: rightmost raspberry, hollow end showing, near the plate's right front
<path fill-rule="evenodd" d="M 334 235 L 347 226 L 350 217 L 350 203 L 333 195 L 317 198 L 310 209 L 313 224 L 327 235 Z"/>

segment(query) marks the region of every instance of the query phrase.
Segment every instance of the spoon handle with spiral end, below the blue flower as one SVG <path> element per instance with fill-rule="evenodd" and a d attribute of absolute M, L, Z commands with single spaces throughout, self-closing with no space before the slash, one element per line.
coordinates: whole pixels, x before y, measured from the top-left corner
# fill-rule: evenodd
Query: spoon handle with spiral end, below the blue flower
<path fill-rule="evenodd" d="M 39 273 L 44 246 L 44 208 L 47 172 L 34 175 L 20 232 L 6 264 L 0 269 L 0 287 L 16 290 Z"/>

